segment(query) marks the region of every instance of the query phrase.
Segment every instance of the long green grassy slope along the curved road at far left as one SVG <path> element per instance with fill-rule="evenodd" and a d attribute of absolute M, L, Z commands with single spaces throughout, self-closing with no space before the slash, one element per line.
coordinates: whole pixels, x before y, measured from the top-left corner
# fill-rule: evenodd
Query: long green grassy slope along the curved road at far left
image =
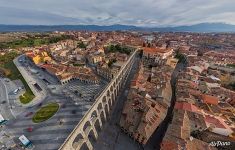
<path fill-rule="evenodd" d="M 6 74 L 6 76 L 9 79 L 22 81 L 26 92 L 20 96 L 20 101 L 23 104 L 27 104 L 27 103 L 31 102 L 35 96 L 34 96 L 33 92 L 31 91 L 31 89 L 29 88 L 27 82 L 24 80 L 24 78 L 20 74 L 19 70 L 17 69 L 17 67 L 13 63 L 13 59 L 16 56 L 17 55 L 14 53 L 8 53 L 4 56 L 0 56 L 0 60 L 2 60 L 2 62 L 3 62 L 2 64 L 0 64 L 0 67 L 7 70 L 8 73 Z"/>

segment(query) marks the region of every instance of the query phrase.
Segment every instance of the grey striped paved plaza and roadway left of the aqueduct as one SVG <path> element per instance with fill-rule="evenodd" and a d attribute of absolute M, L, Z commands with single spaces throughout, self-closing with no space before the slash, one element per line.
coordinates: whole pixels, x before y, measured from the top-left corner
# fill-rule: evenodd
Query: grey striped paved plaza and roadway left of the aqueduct
<path fill-rule="evenodd" d="M 23 59 L 23 57 L 21 56 L 18 59 Z M 85 84 L 80 81 L 74 81 L 62 86 L 47 72 L 35 67 L 28 61 L 20 63 L 17 61 L 18 59 L 15 60 L 15 63 L 21 68 L 21 72 L 27 78 L 26 81 L 29 84 L 38 83 L 42 91 L 38 94 L 39 97 L 34 99 L 29 105 L 20 107 L 21 111 L 14 118 L 11 109 L 9 109 L 9 91 L 6 89 L 5 81 L 1 79 L 1 114 L 9 120 L 1 130 L 6 132 L 7 136 L 13 139 L 15 143 L 19 143 L 19 136 L 25 135 L 33 143 L 35 150 L 45 150 L 45 147 L 47 147 L 47 150 L 57 150 L 90 108 L 95 97 L 105 88 L 107 82 Z M 32 69 L 38 73 L 32 73 Z M 44 82 L 43 79 L 49 81 L 50 85 Z M 10 83 L 7 84 L 9 85 Z M 31 85 L 31 87 L 33 86 Z M 35 92 L 37 94 L 37 91 Z M 81 95 L 79 96 L 78 94 Z M 57 102 L 60 105 L 58 112 L 45 122 L 33 123 L 32 117 L 36 111 L 41 106 L 51 102 Z M 15 104 L 15 101 L 13 104 Z M 18 107 L 15 109 L 18 109 Z M 29 128 L 32 131 L 29 131 Z"/>

